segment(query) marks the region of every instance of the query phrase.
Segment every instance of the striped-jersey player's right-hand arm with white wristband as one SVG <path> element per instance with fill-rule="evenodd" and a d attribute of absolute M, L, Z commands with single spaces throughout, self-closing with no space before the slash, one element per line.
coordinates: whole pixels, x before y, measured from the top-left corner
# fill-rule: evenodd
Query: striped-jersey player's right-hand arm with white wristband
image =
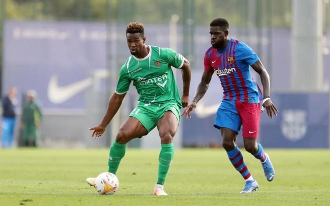
<path fill-rule="evenodd" d="M 277 116 L 278 110 L 270 99 L 270 80 L 268 72 L 266 71 L 260 60 L 252 64 L 251 67 L 260 75 L 263 87 L 262 106 L 266 109 L 268 117 L 272 118 L 272 114 Z"/>

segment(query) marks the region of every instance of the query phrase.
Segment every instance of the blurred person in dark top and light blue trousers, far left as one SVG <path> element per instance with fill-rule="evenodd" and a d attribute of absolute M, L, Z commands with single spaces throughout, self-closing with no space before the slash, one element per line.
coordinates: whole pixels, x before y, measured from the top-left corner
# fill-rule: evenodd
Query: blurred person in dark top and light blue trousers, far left
<path fill-rule="evenodd" d="M 11 87 L 2 99 L 2 147 L 11 148 L 15 128 L 16 87 Z"/>

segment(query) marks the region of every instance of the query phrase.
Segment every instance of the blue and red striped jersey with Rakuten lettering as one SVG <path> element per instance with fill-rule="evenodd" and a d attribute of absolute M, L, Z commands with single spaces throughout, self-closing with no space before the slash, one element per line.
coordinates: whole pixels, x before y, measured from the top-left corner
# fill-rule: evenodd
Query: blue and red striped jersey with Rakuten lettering
<path fill-rule="evenodd" d="M 223 99 L 259 103 L 262 92 L 251 77 L 249 66 L 259 57 L 245 43 L 229 39 L 223 50 L 210 47 L 205 52 L 204 70 L 215 71 L 223 88 Z"/>

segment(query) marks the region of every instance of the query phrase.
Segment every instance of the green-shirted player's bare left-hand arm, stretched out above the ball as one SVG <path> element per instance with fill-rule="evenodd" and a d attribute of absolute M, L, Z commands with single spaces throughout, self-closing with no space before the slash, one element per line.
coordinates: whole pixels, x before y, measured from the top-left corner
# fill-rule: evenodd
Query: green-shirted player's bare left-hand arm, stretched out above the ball
<path fill-rule="evenodd" d="M 117 113 L 125 95 L 126 95 L 126 93 L 125 94 L 117 94 L 117 93 L 112 94 L 112 96 L 109 99 L 109 103 L 108 103 L 105 115 L 102 119 L 102 122 L 95 127 L 89 128 L 89 130 L 93 131 L 93 133 L 91 134 L 91 137 L 97 138 L 103 134 L 106 126 L 110 123 L 113 116 Z"/>

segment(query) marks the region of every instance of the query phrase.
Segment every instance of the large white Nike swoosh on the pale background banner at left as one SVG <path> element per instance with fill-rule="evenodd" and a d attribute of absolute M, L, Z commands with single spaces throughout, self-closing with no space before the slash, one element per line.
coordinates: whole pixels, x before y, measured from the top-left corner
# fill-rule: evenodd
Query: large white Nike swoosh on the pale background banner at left
<path fill-rule="evenodd" d="M 51 103 L 60 104 L 89 87 L 91 84 L 91 78 L 85 78 L 69 85 L 59 87 L 57 84 L 57 75 L 52 75 L 48 84 L 47 96 Z"/>

